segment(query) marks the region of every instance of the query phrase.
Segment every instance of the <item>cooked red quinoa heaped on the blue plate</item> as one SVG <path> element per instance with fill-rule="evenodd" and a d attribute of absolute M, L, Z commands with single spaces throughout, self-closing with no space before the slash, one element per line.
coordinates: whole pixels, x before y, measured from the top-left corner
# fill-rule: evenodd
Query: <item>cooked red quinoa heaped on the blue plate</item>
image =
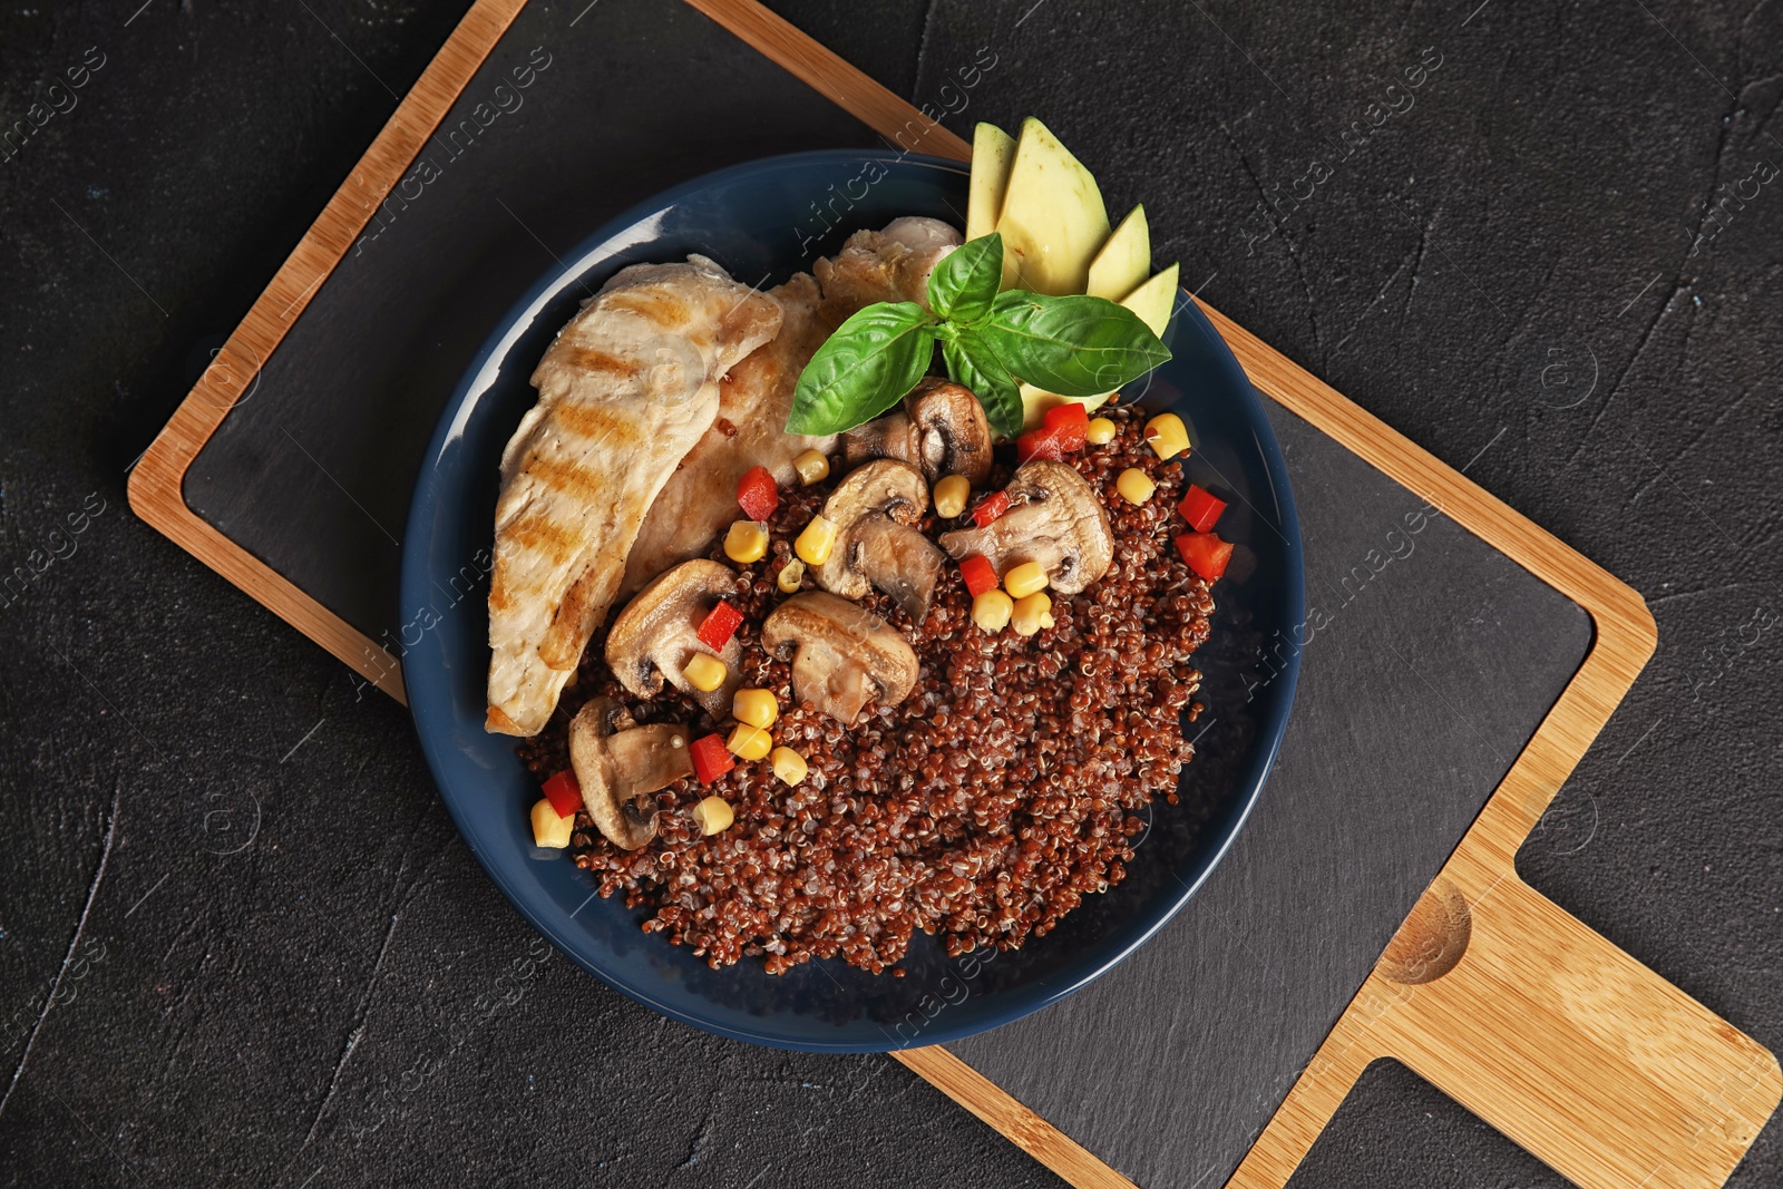
<path fill-rule="evenodd" d="M 770 521 L 772 551 L 738 567 L 733 601 L 744 611 L 745 686 L 774 690 L 776 743 L 806 758 L 809 775 L 781 784 L 767 761 L 701 786 L 676 781 L 660 797 L 658 836 L 626 852 L 578 815 L 576 865 L 603 897 L 649 911 L 644 929 L 690 945 L 711 966 L 765 955 L 768 973 L 809 957 L 843 957 L 874 973 L 904 957 L 916 931 L 949 954 L 981 945 L 1016 948 L 1045 936 L 1082 900 L 1125 875 L 1134 816 L 1154 797 L 1177 804 L 1177 775 L 1195 749 L 1179 726 L 1200 672 L 1189 654 L 1207 638 L 1207 583 L 1177 556 L 1171 537 L 1182 469 L 1143 442 L 1143 410 L 1113 406 L 1120 431 L 1107 446 L 1070 458 L 1098 490 L 1114 528 L 1114 565 L 1075 595 L 1054 595 L 1048 629 L 1023 638 L 986 635 L 972 597 L 949 563 L 920 629 L 877 592 L 863 604 L 904 633 L 922 663 L 916 690 L 890 708 L 868 706 L 847 729 L 793 706 L 790 665 L 760 645 L 760 626 L 783 595 L 774 576 L 792 538 L 840 478 L 783 492 Z M 1134 506 L 1114 476 L 1139 467 L 1157 492 Z M 991 488 L 1009 478 L 1006 463 Z M 934 517 L 922 522 L 934 535 Z M 711 553 L 724 560 L 720 547 Z M 806 576 L 804 588 L 813 588 Z M 535 777 L 569 767 L 567 724 L 588 697 L 606 693 L 638 722 L 719 729 L 672 688 L 637 702 L 590 642 L 574 688 L 546 731 L 521 745 Z M 688 809 L 717 793 L 736 822 L 703 838 Z M 893 973 L 899 973 L 893 970 Z"/>

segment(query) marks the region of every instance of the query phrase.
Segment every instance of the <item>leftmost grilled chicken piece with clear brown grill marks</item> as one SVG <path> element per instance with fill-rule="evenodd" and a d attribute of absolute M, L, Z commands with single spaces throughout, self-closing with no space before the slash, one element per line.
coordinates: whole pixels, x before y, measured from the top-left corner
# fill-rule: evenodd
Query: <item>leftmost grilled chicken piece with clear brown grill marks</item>
<path fill-rule="evenodd" d="M 489 731 L 544 727 L 645 512 L 711 426 L 719 378 L 779 324 L 774 298 L 688 257 L 620 271 L 558 332 L 501 458 Z"/>

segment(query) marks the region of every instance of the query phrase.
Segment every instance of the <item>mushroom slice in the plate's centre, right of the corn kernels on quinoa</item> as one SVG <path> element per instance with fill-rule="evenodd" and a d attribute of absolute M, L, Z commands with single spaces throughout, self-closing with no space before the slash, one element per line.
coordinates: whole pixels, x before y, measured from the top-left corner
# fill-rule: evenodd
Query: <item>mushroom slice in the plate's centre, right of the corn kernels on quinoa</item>
<path fill-rule="evenodd" d="M 786 599 L 761 624 L 761 645 L 792 656 L 792 692 L 843 726 L 868 699 L 897 706 L 916 685 L 916 652 L 872 611 L 813 590 Z"/>

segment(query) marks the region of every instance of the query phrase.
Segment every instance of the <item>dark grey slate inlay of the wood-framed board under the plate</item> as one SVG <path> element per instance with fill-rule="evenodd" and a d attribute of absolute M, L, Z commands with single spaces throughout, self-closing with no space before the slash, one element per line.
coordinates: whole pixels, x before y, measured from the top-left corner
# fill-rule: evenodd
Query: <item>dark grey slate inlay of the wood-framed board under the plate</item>
<path fill-rule="evenodd" d="M 497 9 L 514 4 L 472 18 Z M 244 387 L 184 469 L 185 506 L 342 635 L 394 640 L 398 540 L 437 412 L 555 253 L 697 173 L 875 141 L 781 70 L 824 77 L 815 46 L 772 23 L 751 36 L 781 64 L 679 0 L 521 9 L 392 198 L 292 299 L 301 316 L 276 351 L 234 353 Z M 1321 428 L 1269 412 L 1302 510 L 1311 633 L 1271 645 L 1303 668 L 1250 825 L 1129 963 L 950 1046 L 1143 1184 L 1221 1184 L 1239 1166 L 1592 647 L 1590 617 L 1551 585 Z M 1257 679 L 1269 672 L 1262 652 Z M 954 993 L 938 988 L 936 1011 Z"/>

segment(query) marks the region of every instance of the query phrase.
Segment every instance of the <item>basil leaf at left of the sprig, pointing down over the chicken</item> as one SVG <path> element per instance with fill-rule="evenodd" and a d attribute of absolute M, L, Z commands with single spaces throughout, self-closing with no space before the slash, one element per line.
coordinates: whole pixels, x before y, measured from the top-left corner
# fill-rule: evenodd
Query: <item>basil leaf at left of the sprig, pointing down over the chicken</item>
<path fill-rule="evenodd" d="M 877 301 L 836 328 L 799 374 L 786 433 L 842 433 L 916 387 L 934 358 L 934 326 L 915 301 Z"/>

